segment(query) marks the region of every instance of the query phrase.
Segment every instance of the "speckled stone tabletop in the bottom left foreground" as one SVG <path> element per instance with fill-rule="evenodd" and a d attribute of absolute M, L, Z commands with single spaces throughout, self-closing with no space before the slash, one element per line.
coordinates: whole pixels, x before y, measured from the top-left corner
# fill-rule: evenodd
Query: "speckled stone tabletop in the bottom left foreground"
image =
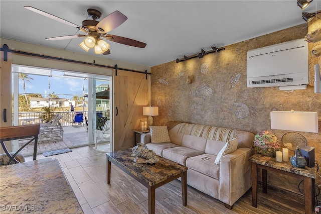
<path fill-rule="evenodd" d="M 57 159 L 0 168 L 0 208 L 10 213 L 84 213 Z"/>

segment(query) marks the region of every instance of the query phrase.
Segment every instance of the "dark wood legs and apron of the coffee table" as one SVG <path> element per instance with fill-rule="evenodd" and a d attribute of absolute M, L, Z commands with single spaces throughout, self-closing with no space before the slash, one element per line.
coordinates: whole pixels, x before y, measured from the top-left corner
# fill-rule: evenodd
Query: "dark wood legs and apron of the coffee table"
<path fill-rule="evenodd" d="M 183 199 L 183 205 L 187 205 L 187 171 L 184 171 L 176 176 L 170 177 L 160 183 L 156 183 L 155 185 L 150 186 L 147 182 L 144 180 L 139 179 L 135 175 L 131 174 L 128 170 L 126 170 L 121 163 L 119 163 L 114 158 L 110 157 L 107 153 L 107 184 L 110 184 L 110 169 L 111 169 L 111 163 L 115 164 L 118 168 L 126 172 L 128 175 L 133 177 L 135 180 L 137 180 L 139 183 L 144 185 L 148 188 L 148 213 L 153 214 L 155 213 L 155 189 L 159 186 L 162 186 L 166 183 L 169 183 L 179 177 L 182 178 L 182 199 Z"/>

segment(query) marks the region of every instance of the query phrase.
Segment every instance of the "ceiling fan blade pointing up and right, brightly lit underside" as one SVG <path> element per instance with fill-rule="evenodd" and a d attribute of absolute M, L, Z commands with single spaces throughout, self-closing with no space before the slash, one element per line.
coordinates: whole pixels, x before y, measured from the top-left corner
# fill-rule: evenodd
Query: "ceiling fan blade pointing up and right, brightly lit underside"
<path fill-rule="evenodd" d="M 119 25 L 123 24 L 127 20 L 127 17 L 124 16 L 119 11 L 115 11 L 105 18 L 103 18 L 97 25 L 96 30 L 101 30 L 103 33 L 107 33 L 117 28 Z"/>

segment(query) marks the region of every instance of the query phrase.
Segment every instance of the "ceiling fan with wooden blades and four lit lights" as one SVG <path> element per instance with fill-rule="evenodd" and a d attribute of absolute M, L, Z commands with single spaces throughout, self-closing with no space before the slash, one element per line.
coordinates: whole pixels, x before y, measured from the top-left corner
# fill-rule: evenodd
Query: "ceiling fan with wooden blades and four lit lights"
<path fill-rule="evenodd" d="M 66 25 L 70 25 L 72 27 L 76 27 L 79 31 L 82 31 L 86 34 L 76 34 L 76 35 L 69 35 L 69 36 L 59 36 L 59 37 L 51 37 L 46 38 L 46 40 L 64 40 L 64 39 L 75 39 L 75 38 L 86 38 L 83 42 L 79 44 L 85 51 L 89 51 L 90 48 L 94 49 L 95 54 L 103 54 L 107 55 L 110 54 L 109 47 L 110 45 L 102 40 L 104 38 L 109 41 L 117 42 L 124 45 L 129 45 L 138 48 L 144 48 L 146 43 L 139 42 L 133 39 L 115 36 L 111 34 L 107 34 L 108 32 L 112 31 L 113 29 L 120 26 L 127 20 L 127 17 L 124 16 L 119 11 L 115 11 L 101 21 L 97 21 L 101 17 L 101 12 L 95 9 L 88 9 L 87 13 L 88 16 L 92 20 L 84 20 L 82 21 L 82 26 L 78 26 L 74 23 L 71 23 L 67 20 L 49 14 L 47 12 L 41 11 L 39 9 L 33 8 L 31 6 L 25 6 L 24 8 L 36 12 L 40 15 L 48 17 L 50 19 L 56 20 L 58 22 L 64 23 Z"/>

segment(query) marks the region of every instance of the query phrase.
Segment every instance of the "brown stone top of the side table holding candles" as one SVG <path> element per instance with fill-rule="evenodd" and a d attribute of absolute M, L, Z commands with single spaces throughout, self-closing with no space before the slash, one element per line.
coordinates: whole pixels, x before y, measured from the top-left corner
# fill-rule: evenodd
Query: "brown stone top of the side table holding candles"
<path fill-rule="evenodd" d="M 277 162 L 275 157 L 265 156 L 261 154 L 255 154 L 249 158 L 249 160 L 253 163 L 257 163 L 263 166 L 268 166 L 274 169 L 280 169 L 283 171 L 291 172 L 294 174 L 302 175 L 305 177 L 310 177 L 315 179 L 316 175 L 316 167 L 305 167 L 305 168 L 297 168 L 293 167 L 290 162 Z"/>

